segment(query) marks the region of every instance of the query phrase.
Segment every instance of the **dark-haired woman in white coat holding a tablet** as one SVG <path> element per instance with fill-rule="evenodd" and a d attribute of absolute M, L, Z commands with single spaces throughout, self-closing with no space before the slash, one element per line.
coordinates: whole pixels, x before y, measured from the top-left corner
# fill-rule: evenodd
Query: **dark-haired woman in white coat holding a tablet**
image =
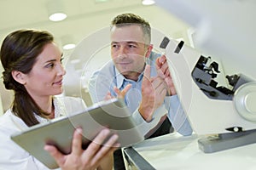
<path fill-rule="evenodd" d="M 0 57 L 5 88 L 15 91 L 11 108 L 0 117 L 0 168 L 48 169 L 43 163 L 21 149 L 9 137 L 41 122 L 83 110 L 82 99 L 56 97 L 62 93 L 61 51 L 47 31 L 19 30 L 3 41 Z M 65 105 L 68 104 L 68 107 Z M 82 129 L 73 134 L 72 153 L 62 155 L 52 145 L 45 150 L 55 158 L 61 169 L 112 169 L 113 150 L 119 147 L 118 136 L 112 135 L 106 145 L 109 129 L 103 129 L 86 150 L 82 150 Z M 113 147 L 109 147 L 113 146 Z"/>

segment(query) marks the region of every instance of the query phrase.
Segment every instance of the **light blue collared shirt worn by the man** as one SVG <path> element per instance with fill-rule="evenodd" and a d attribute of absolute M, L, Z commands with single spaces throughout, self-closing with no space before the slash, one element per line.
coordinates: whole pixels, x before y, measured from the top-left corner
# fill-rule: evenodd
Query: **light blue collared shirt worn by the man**
<path fill-rule="evenodd" d="M 150 76 L 157 76 L 155 67 L 155 59 L 159 57 L 159 54 L 151 53 L 147 60 L 147 64 L 150 65 L 151 71 Z M 113 91 L 113 87 L 116 86 L 119 90 L 125 88 L 127 84 L 131 84 L 131 89 L 125 94 L 125 103 L 132 113 L 132 116 L 140 127 L 141 133 L 144 135 L 154 128 L 160 121 L 160 117 L 167 114 L 172 127 L 182 135 L 190 135 L 192 128 L 190 127 L 189 121 L 186 114 L 183 111 L 182 105 L 177 95 L 166 96 L 165 102 L 156 111 L 154 111 L 153 120 L 146 122 L 140 113 L 137 111 L 138 106 L 142 100 L 142 82 L 143 73 L 138 77 L 137 81 L 126 79 L 122 74 L 119 73 L 117 68 L 114 66 L 113 61 L 109 61 L 100 70 L 96 71 L 89 81 L 89 92 L 92 101 L 98 102 L 105 99 L 108 92 L 112 96 L 116 96 Z"/>

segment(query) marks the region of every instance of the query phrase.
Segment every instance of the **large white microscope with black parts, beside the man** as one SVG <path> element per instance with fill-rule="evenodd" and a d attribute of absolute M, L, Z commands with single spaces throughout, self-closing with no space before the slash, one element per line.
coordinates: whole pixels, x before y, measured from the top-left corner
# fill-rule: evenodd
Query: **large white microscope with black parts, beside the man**
<path fill-rule="evenodd" d="M 195 30 L 195 47 L 169 39 L 165 48 L 183 110 L 201 137 L 201 150 L 212 153 L 255 143 L 256 3 L 157 0 L 156 4 Z"/>

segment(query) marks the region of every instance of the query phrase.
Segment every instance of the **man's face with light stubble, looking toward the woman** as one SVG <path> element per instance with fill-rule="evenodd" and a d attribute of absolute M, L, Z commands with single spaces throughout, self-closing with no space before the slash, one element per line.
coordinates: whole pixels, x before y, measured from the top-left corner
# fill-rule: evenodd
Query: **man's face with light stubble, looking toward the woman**
<path fill-rule="evenodd" d="M 136 81 L 151 51 L 151 46 L 145 44 L 142 27 L 113 26 L 110 38 L 114 65 L 126 78 Z"/>

